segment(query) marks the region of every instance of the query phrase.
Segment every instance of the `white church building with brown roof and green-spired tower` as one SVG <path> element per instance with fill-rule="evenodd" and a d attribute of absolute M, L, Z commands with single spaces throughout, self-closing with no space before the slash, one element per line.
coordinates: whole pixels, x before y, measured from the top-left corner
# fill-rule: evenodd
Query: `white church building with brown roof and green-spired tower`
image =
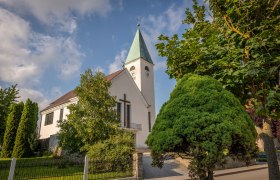
<path fill-rule="evenodd" d="M 109 93 L 116 97 L 121 128 L 135 133 L 138 150 L 146 149 L 145 141 L 155 122 L 154 64 L 138 28 L 124 68 L 106 77 L 111 82 Z M 57 121 L 67 119 L 67 108 L 78 101 L 70 91 L 41 111 L 40 139 L 48 149 L 57 144 Z"/>

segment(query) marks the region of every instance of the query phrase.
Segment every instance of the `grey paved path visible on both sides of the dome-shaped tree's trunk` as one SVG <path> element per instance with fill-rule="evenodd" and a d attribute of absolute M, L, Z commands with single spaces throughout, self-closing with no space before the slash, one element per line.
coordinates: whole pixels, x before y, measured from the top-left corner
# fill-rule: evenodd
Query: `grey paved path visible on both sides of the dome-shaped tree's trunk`
<path fill-rule="evenodd" d="M 175 160 L 168 160 L 162 169 L 152 167 L 149 154 L 143 156 L 144 179 L 189 180 L 188 169 Z M 215 180 L 268 180 L 267 164 L 217 170 Z"/>

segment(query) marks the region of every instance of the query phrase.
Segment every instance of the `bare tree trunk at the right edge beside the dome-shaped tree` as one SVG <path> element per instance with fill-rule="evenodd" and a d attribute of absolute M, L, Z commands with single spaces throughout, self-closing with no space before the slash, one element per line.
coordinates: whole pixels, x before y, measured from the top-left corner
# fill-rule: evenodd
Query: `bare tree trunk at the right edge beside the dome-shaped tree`
<path fill-rule="evenodd" d="M 260 137 L 264 142 L 264 151 L 267 156 L 269 180 L 279 180 L 280 172 L 269 120 L 264 121 Z"/>

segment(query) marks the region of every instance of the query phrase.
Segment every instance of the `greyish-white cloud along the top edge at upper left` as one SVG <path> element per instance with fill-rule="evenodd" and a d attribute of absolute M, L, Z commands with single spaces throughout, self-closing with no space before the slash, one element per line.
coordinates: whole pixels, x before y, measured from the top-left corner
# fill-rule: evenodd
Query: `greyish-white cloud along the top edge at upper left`
<path fill-rule="evenodd" d="M 0 0 L 0 3 L 31 13 L 41 22 L 69 33 L 77 27 L 74 14 L 105 16 L 112 10 L 109 0 Z"/>

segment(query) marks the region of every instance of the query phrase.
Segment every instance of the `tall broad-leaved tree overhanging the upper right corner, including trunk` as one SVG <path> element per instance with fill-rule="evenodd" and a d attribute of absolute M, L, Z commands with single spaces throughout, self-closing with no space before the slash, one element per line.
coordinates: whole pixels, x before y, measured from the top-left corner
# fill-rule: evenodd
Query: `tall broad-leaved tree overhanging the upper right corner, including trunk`
<path fill-rule="evenodd" d="M 279 118 L 280 6 L 271 0 L 209 0 L 206 8 L 194 1 L 186 10 L 182 38 L 161 35 L 157 49 L 167 57 L 167 73 L 180 79 L 187 73 L 210 75 L 245 104 L 251 99 L 263 120 L 270 179 L 280 179 L 271 132 Z"/>

